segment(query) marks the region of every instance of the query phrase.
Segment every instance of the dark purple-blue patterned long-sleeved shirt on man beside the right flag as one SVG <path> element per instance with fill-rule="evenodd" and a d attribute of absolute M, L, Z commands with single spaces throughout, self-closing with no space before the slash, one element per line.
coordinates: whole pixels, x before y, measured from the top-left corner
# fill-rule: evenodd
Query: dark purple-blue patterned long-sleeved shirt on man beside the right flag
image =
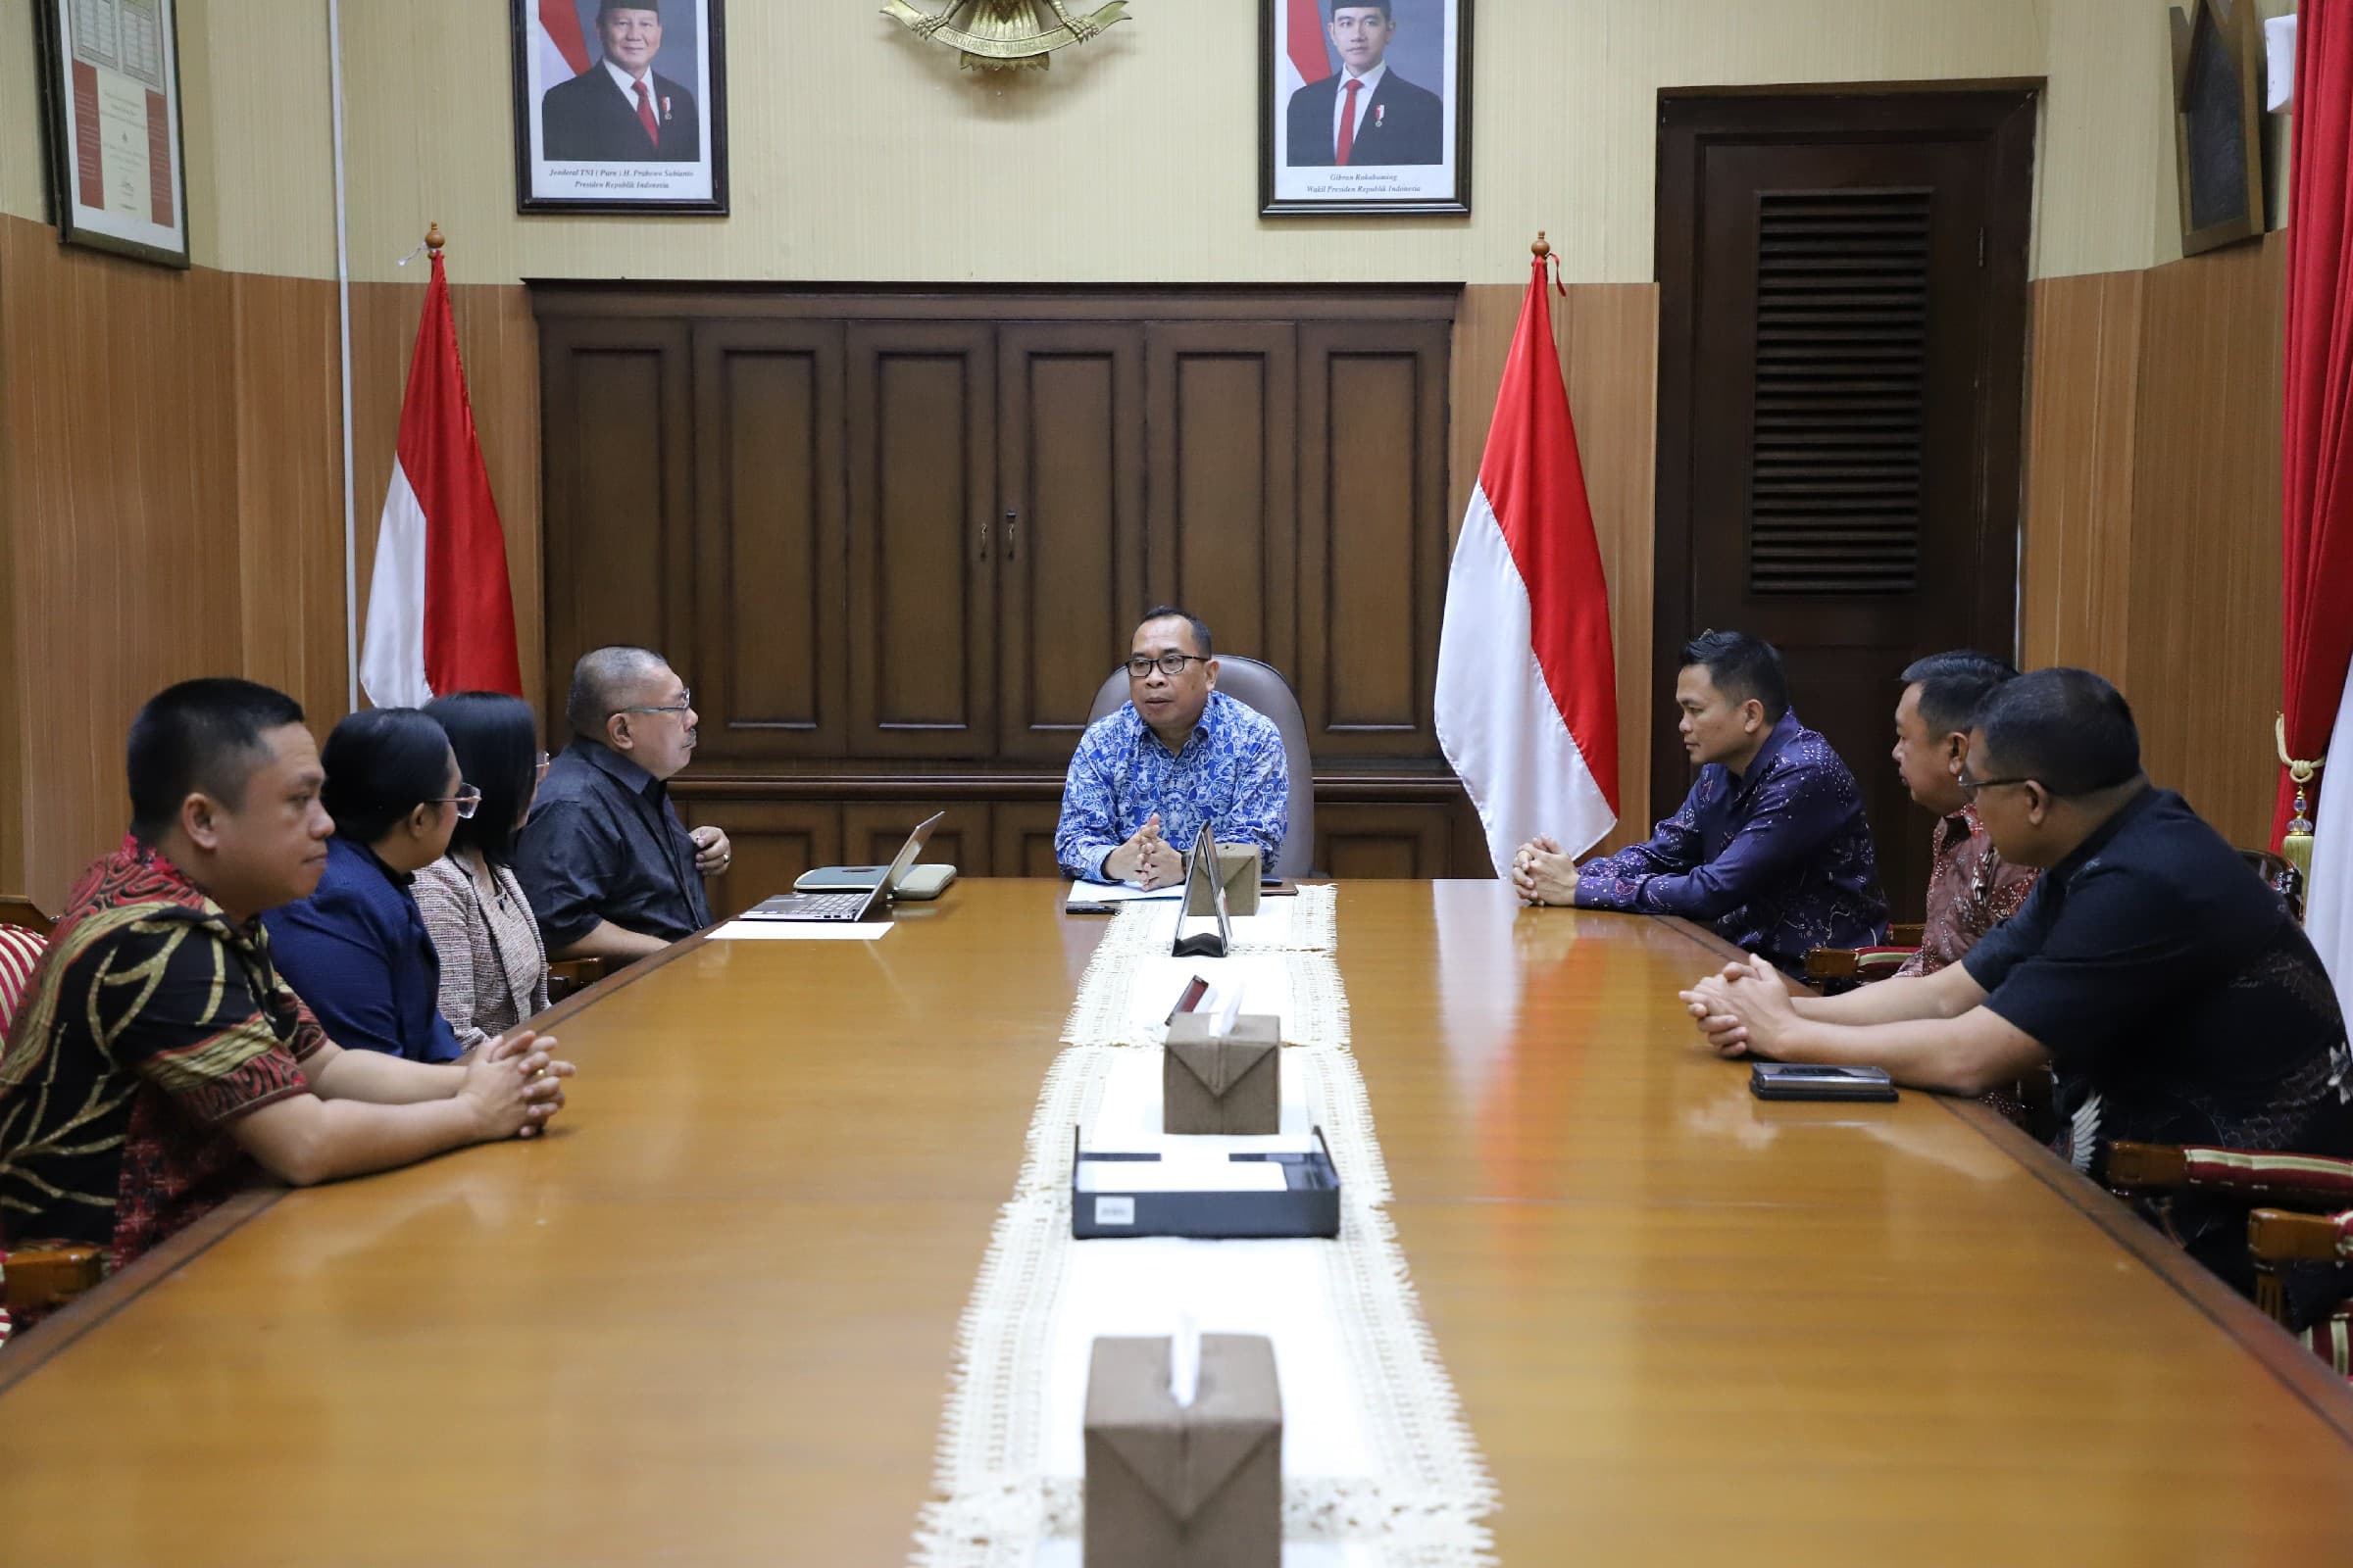
<path fill-rule="evenodd" d="M 1680 914 L 1741 952 L 1805 971 L 1809 947 L 1887 940 L 1887 896 L 1854 773 L 1784 712 L 1739 778 L 1699 769 L 1649 844 L 1577 867 L 1581 910 Z"/>

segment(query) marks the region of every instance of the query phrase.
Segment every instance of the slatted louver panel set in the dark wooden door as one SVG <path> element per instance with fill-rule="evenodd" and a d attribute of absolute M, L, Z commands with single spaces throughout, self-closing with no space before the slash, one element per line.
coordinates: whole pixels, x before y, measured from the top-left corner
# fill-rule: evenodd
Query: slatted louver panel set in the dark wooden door
<path fill-rule="evenodd" d="M 1911 592 L 1929 193 L 1758 200 L 1751 592 Z"/>

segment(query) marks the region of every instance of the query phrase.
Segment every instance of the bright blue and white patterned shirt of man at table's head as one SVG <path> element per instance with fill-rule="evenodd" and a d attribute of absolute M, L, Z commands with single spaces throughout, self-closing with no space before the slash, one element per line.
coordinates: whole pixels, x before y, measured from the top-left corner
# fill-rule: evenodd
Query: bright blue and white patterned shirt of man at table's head
<path fill-rule="evenodd" d="M 1219 844 L 1257 844 L 1259 863 L 1273 867 L 1292 820 L 1282 731 L 1224 691 L 1209 693 L 1174 757 L 1134 703 L 1096 719 L 1061 785 L 1054 858 L 1064 875 L 1104 882 L 1104 856 L 1136 837 L 1155 811 L 1160 837 L 1181 851 L 1209 823 Z"/>

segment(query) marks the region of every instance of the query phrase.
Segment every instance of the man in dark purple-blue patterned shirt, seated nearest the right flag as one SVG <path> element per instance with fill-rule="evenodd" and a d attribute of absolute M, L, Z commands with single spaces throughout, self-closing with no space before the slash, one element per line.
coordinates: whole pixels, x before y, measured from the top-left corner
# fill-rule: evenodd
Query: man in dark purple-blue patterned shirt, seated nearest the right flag
<path fill-rule="evenodd" d="M 1675 675 L 1678 733 L 1699 780 L 1647 844 L 1586 860 L 1522 844 L 1529 903 L 1680 914 L 1777 969 L 1809 947 L 1887 940 L 1887 896 L 1854 773 L 1788 710 L 1781 654 L 1744 632 L 1701 632 Z"/>

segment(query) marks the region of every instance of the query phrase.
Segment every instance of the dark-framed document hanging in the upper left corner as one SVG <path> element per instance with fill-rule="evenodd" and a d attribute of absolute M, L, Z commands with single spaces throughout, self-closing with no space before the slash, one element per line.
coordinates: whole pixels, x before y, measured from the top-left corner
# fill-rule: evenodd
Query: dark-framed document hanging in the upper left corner
<path fill-rule="evenodd" d="M 56 237 L 188 266 L 179 0 L 33 0 Z"/>

